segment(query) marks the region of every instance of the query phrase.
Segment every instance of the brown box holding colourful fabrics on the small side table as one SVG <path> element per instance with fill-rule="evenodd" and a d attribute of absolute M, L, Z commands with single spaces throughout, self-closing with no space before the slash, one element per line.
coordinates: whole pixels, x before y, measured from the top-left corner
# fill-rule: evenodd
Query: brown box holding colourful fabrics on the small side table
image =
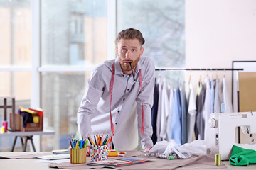
<path fill-rule="evenodd" d="M 11 117 L 13 114 L 10 113 L 10 126 L 12 125 Z M 38 116 L 33 114 L 33 116 Z M 18 113 L 15 113 L 15 130 L 21 132 L 30 131 L 42 131 L 43 130 L 43 116 L 39 117 L 39 123 L 27 123 L 26 128 L 23 128 L 23 117 Z"/>

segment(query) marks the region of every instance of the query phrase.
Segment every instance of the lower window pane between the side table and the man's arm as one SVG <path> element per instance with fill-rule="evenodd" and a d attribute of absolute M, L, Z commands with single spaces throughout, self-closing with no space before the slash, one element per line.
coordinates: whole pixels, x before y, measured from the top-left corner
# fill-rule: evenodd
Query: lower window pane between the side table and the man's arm
<path fill-rule="evenodd" d="M 78 130 L 77 112 L 90 72 L 44 72 L 42 108 L 44 125 L 55 135 L 43 137 L 43 150 L 69 147 L 70 135 Z"/>

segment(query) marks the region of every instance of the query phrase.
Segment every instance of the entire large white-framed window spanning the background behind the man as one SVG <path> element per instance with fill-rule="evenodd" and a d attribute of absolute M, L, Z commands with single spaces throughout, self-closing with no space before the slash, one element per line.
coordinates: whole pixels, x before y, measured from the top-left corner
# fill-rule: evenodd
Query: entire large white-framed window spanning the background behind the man
<path fill-rule="evenodd" d="M 38 16 L 33 13 L 33 3 L 40 6 Z M 126 28 L 141 30 L 146 39 L 144 55 L 154 60 L 156 68 L 184 67 L 184 3 L 180 0 L 162 0 L 161 4 L 154 0 L 0 0 L 0 96 L 15 96 L 16 110 L 20 105 L 29 108 L 38 100 L 38 107 L 44 111 L 44 127 L 55 130 L 54 136 L 42 137 L 42 150 L 67 148 L 70 135 L 77 132 L 78 106 L 90 71 L 107 60 L 107 55 L 114 57 L 111 52 L 114 52 L 115 29 L 117 32 Z M 117 13 L 113 12 L 116 9 Z M 33 17 L 40 21 L 38 34 L 32 30 Z M 38 56 L 33 57 L 32 35 L 40 40 Z M 183 73 L 166 75 L 170 81 L 179 76 Z M 33 81 L 40 84 L 36 91 Z M 36 99 L 32 97 L 35 94 L 39 94 Z M 0 120 L 3 117 L 0 109 Z M 14 137 L 1 139 L 0 151 L 9 151 Z M 19 140 L 18 146 L 21 147 Z"/>

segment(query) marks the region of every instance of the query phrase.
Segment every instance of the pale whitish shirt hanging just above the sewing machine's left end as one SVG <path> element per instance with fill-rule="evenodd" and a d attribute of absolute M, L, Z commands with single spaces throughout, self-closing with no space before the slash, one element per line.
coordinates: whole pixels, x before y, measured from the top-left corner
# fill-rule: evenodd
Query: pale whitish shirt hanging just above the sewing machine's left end
<path fill-rule="evenodd" d="M 204 79 L 204 89 L 206 89 L 206 94 L 204 97 L 203 103 L 203 135 L 199 138 L 200 140 L 204 140 L 206 136 L 206 130 L 208 126 L 208 119 L 210 118 L 210 81 L 208 77 Z"/>

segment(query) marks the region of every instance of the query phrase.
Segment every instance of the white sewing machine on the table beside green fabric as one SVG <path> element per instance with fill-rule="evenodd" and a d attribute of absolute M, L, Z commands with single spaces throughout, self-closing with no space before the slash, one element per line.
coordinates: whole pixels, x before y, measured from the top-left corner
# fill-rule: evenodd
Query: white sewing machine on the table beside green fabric
<path fill-rule="evenodd" d="M 247 144 L 238 144 L 235 141 L 237 127 L 250 137 L 256 133 L 256 112 L 212 113 L 206 125 L 206 153 L 209 156 L 215 157 L 215 154 L 221 154 L 221 160 L 228 160 L 233 145 L 256 150 L 256 144 L 252 143 L 253 138 Z"/>

